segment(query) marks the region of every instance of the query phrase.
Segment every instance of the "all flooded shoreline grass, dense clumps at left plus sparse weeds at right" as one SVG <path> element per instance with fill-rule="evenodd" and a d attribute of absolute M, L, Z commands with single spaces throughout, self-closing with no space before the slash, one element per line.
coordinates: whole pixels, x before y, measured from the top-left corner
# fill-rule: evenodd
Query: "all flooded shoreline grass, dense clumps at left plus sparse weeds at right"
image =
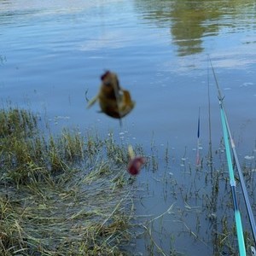
<path fill-rule="evenodd" d="M 135 240 L 147 255 L 187 255 L 191 244 L 238 254 L 222 141 L 199 166 L 187 147 L 177 157 L 168 144 L 160 153 L 152 143 L 143 179 L 134 183 L 127 148 L 113 134 L 44 135 L 38 122 L 29 111 L 0 110 L 0 255 L 133 255 Z M 255 160 L 242 169 L 255 210 Z M 238 180 L 237 190 L 249 253 Z M 151 214 L 156 201 L 166 210 Z M 147 213 L 136 216 L 135 206 Z"/>

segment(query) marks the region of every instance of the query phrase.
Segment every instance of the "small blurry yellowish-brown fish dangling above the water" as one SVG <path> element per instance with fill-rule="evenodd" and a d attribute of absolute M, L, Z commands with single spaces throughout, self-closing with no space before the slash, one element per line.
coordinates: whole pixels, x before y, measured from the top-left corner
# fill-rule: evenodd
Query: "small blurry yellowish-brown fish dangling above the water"
<path fill-rule="evenodd" d="M 88 103 L 90 108 L 96 101 L 99 101 L 103 113 L 115 119 L 121 119 L 130 113 L 135 102 L 131 100 L 128 90 L 119 85 L 119 79 L 115 73 L 107 71 L 102 74 L 102 84 L 99 93 Z"/>

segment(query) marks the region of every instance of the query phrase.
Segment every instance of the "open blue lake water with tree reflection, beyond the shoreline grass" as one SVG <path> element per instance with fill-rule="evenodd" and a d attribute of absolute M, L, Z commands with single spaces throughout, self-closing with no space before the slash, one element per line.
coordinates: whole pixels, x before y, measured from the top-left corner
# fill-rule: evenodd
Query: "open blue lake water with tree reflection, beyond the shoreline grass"
<path fill-rule="evenodd" d="M 222 128 L 208 55 L 225 96 L 241 162 L 255 154 L 254 0 L 5 0 L 0 1 L 0 38 L 3 106 L 11 102 L 32 109 L 53 132 L 64 126 L 82 132 L 96 129 L 102 136 L 113 131 L 118 143 L 143 144 L 147 154 L 154 153 L 158 172 L 148 170 L 137 177 L 138 185 L 148 186 L 138 215 L 160 216 L 175 202 L 169 195 L 173 177 L 179 188 L 191 183 L 179 172 L 183 161 L 195 169 L 199 108 L 201 156 L 207 155 L 208 86 L 212 148 L 219 147 Z M 98 106 L 86 109 L 85 91 L 88 97 L 96 95 L 105 70 L 118 73 L 120 84 L 137 102 L 121 127 L 116 119 L 98 113 Z M 162 163 L 166 152 L 167 166 Z M 176 203 L 186 207 L 183 201 Z M 200 215 L 193 209 L 188 226 Z M 207 236 L 193 241 L 178 231 L 178 222 L 165 221 L 170 224 L 166 230 L 152 231 L 161 253 L 168 255 L 172 244 L 184 255 L 212 254 Z M 174 233 L 182 235 L 172 239 Z M 149 247 L 143 239 L 135 244 L 137 253 Z M 161 254 L 155 244 L 153 251 Z"/>

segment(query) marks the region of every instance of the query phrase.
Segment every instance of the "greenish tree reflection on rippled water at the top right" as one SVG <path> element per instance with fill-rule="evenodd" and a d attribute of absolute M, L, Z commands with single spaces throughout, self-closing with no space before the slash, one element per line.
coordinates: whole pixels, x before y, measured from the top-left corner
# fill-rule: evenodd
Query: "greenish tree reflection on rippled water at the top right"
<path fill-rule="evenodd" d="M 255 29 L 253 1 L 136 1 L 136 8 L 143 19 L 170 26 L 178 55 L 201 53 L 203 38 L 218 36 L 224 27 L 229 32 Z"/>

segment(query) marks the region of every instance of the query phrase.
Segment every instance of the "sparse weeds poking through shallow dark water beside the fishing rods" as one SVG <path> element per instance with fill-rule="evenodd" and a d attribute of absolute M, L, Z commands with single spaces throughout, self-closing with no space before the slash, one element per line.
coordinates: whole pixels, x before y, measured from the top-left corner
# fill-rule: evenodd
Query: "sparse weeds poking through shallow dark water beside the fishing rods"
<path fill-rule="evenodd" d="M 148 165 L 148 197 L 142 198 L 147 213 L 147 205 L 153 209 L 158 201 L 162 201 L 159 204 L 160 212 L 153 215 L 149 212 L 149 216 L 142 216 L 142 243 L 147 248 L 147 255 L 238 255 L 223 140 L 212 154 L 201 157 L 200 165 L 193 164 L 195 154 L 191 159 L 186 150 L 180 158 L 172 157 L 171 165 L 170 157 L 166 157 L 166 149 L 162 151 L 156 160 L 160 162 L 158 169 L 152 172 L 153 166 Z M 253 154 L 255 152 L 253 150 Z M 242 170 L 255 210 L 256 168 L 253 154 L 245 157 Z M 253 236 L 237 175 L 236 182 L 247 254 L 252 255 Z M 160 188 L 157 195 L 154 195 L 155 188 Z M 154 206 L 148 201 L 154 201 Z"/>

